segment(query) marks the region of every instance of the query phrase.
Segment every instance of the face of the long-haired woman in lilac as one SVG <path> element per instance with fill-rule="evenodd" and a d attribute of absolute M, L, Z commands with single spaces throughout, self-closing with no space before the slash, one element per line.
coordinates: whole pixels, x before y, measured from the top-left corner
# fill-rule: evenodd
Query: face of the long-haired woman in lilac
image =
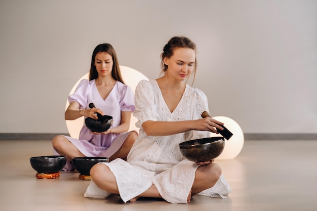
<path fill-rule="evenodd" d="M 113 61 L 110 54 L 106 52 L 99 52 L 95 57 L 95 66 L 98 72 L 98 77 L 111 75 Z"/>

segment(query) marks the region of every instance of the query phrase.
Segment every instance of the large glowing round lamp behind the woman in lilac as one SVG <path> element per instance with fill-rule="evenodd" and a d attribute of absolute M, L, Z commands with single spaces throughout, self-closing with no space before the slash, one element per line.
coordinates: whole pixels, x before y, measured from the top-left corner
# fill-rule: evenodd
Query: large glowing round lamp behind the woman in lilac
<path fill-rule="evenodd" d="M 135 88 L 137 87 L 138 83 L 140 80 L 148 80 L 148 78 L 143 75 L 141 72 L 131 68 L 131 67 L 127 67 L 127 66 L 122 66 L 120 65 L 120 70 L 121 70 L 121 75 L 122 75 L 122 79 L 124 80 L 124 82 L 126 83 L 126 85 L 128 85 L 129 87 L 131 87 L 131 89 L 133 90 L 133 93 L 135 92 Z M 86 73 L 85 75 L 83 75 L 73 86 L 73 88 L 71 89 L 69 95 L 73 94 L 78 86 L 78 84 L 80 83 L 80 81 L 82 79 L 89 79 L 89 72 Z M 65 110 L 68 108 L 69 103 L 68 100 L 66 100 L 66 106 L 65 106 Z M 139 131 L 139 129 L 135 126 L 135 123 L 138 121 L 138 119 L 136 117 L 134 117 L 133 115 L 131 116 L 131 120 L 130 120 L 130 129 L 129 131 Z M 75 120 L 66 120 L 66 126 L 67 126 L 67 130 L 69 135 L 72 138 L 78 139 L 82 126 L 84 124 L 84 116 L 77 118 Z"/>

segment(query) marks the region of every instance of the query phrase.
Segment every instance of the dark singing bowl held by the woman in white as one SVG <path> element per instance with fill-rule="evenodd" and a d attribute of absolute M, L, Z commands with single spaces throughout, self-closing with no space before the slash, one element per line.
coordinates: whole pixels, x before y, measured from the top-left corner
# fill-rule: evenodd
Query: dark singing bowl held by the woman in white
<path fill-rule="evenodd" d="M 195 139 L 179 144 L 182 155 L 193 162 L 204 162 L 218 157 L 224 148 L 223 137 Z"/>

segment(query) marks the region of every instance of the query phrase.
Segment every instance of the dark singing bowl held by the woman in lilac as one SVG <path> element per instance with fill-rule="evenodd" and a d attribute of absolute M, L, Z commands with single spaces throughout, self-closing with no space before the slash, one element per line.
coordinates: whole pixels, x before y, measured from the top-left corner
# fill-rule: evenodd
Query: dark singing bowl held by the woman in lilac
<path fill-rule="evenodd" d="M 112 116 L 100 115 L 98 120 L 87 117 L 85 119 L 85 124 L 90 131 L 102 133 L 110 128 L 112 125 L 112 120 Z"/>

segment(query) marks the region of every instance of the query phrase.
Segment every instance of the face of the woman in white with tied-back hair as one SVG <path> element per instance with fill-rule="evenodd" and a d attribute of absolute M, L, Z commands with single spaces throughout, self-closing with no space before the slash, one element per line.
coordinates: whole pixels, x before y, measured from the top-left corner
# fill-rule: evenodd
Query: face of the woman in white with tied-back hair
<path fill-rule="evenodd" d="M 164 63 L 168 66 L 167 75 L 176 80 L 187 79 L 193 71 L 195 58 L 195 51 L 190 48 L 175 49 L 170 58 L 164 58 Z"/>

